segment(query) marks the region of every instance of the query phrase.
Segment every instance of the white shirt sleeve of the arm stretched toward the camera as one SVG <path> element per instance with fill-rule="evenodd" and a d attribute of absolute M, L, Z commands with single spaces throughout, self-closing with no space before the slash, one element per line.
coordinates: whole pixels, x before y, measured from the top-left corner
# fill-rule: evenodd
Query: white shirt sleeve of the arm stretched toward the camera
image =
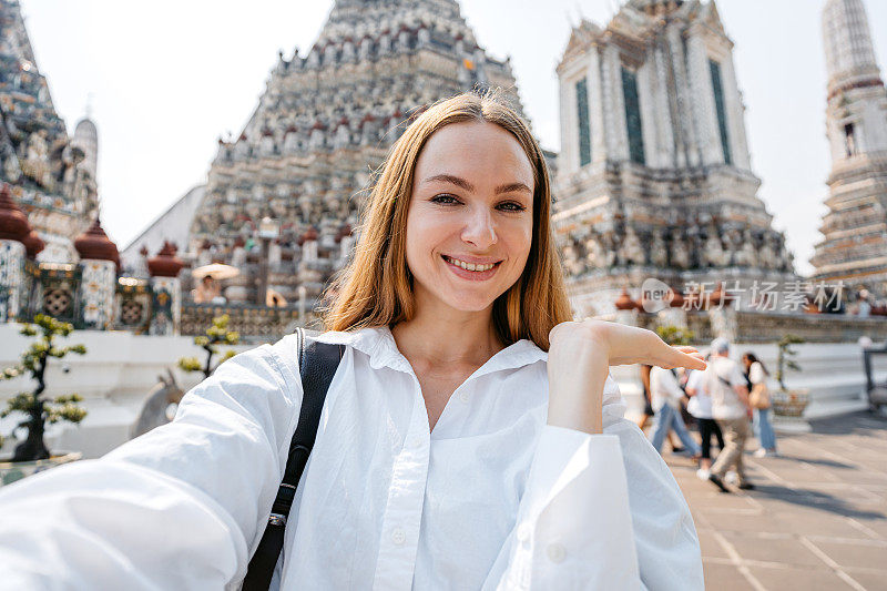
<path fill-rule="evenodd" d="M 169 425 L 101 459 L 4 487 L 4 584 L 238 584 L 276 495 L 302 404 L 300 381 L 278 363 L 274 347 L 222 364 L 183 397 Z"/>

